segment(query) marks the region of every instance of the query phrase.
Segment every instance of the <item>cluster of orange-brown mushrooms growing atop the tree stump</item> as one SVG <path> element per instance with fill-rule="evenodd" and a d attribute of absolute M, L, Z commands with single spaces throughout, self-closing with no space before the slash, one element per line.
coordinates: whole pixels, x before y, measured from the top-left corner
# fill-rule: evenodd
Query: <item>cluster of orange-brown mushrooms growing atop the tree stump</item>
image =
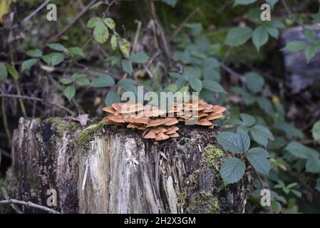
<path fill-rule="evenodd" d="M 196 125 L 214 128 L 212 120 L 222 118 L 226 108 L 210 105 L 205 100 L 190 100 L 173 103 L 167 110 L 141 103 L 114 103 L 103 110 L 110 113 L 103 122 L 143 130 L 143 138 L 158 142 L 179 137 L 176 126 L 179 122 L 194 121 Z"/>

